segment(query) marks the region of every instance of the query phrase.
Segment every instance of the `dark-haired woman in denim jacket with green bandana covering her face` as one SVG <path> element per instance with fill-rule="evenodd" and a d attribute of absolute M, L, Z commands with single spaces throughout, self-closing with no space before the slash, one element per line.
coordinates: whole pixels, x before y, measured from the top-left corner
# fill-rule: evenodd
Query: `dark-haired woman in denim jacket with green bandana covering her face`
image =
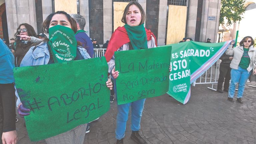
<path fill-rule="evenodd" d="M 76 21 L 66 12 L 57 11 L 50 14 L 43 23 L 43 30 L 49 34 L 49 40 L 45 39 L 37 46 L 31 47 L 20 66 L 45 65 L 90 58 L 86 49 L 81 47 L 81 43 L 75 39 Z M 59 41 L 66 45 L 61 45 Z M 112 89 L 112 82 L 108 80 L 106 83 L 107 87 Z M 25 108 L 20 99 L 17 100 L 16 105 L 21 117 L 29 115 L 30 109 Z M 82 124 L 72 130 L 47 138 L 45 141 L 47 144 L 83 144 L 85 130 L 86 124 Z"/>

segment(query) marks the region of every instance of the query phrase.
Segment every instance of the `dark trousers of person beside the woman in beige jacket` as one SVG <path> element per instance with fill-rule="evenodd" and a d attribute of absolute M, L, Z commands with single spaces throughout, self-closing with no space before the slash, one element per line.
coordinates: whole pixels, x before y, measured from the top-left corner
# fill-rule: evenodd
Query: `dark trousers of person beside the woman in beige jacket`
<path fill-rule="evenodd" d="M 223 82 L 224 82 L 224 89 L 228 90 L 229 81 L 231 79 L 230 71 L 231 71 L 230 64 L 220 63 L 220 75 L 219 75 L 218 86 L 217 86 L 218 90 L 222 90 Z"/>

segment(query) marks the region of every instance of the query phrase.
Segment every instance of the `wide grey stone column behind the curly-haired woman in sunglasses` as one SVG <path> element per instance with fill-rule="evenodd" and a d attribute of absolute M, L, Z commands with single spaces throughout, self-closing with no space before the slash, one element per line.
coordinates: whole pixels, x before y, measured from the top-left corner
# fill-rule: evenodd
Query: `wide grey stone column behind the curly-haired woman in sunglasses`
<path fill-rule="evenodd" d="M 9 37 L 13 37 L 16 29 L 22 23 L 30 24 L 37 33 L 34 0 L 7 0 L 5 4 Z"/>

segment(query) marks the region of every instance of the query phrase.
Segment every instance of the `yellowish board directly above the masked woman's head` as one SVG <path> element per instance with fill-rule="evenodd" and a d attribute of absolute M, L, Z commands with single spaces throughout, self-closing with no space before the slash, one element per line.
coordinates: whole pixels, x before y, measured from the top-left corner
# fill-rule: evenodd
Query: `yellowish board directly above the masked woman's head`
<path fill-rule="evenodd" d="M 54 9 L 56 11 L 65 11 L 68 14 L 77 14 L 76 0 L 54 0 Z"/>

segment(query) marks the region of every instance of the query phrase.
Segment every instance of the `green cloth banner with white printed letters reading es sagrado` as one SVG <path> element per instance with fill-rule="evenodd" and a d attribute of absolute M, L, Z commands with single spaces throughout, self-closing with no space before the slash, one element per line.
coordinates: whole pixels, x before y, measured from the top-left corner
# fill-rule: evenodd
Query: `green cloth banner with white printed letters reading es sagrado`
<path fill-rule="evenodd" d="M 220 58 L 230 42 L 189 41 L 169 45 L 172 46 L 172 72 L 169 75 L 170 84 L 167 93 L 177 101 L 186 104 L 190 98 L 190 84 Z"/>

